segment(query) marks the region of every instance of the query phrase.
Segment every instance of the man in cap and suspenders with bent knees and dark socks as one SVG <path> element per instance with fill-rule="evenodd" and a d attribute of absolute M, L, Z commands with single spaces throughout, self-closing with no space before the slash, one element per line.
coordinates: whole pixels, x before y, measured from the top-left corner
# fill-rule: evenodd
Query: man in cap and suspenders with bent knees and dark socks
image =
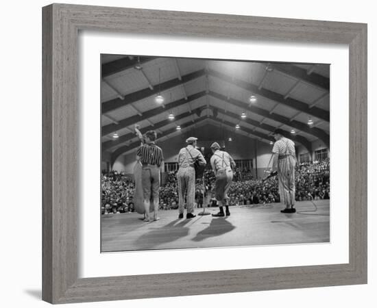
<path fill-rule="evenodd" d="M 213 142 L 210 146 L 212 150 L 212 157 L 210 157 L 210 165 L 215 173 L 215 198 L 219 202 L 219 213 L 212 214 L 215 217 L 230 216 L 228 207 L 228 190 L 233 179 L 232 169 L 236 167 L 236 163 L 232 156 L 226 151 L 220 151 L 220 146 L 217 142 Z M 224 214 L 223 205 L 226 207 Z"/>

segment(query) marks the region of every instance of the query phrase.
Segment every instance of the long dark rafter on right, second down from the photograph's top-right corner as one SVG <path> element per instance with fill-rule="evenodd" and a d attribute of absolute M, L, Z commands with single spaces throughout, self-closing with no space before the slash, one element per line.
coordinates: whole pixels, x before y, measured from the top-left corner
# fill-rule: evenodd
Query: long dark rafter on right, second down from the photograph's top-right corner
<path fill-rule="evenodd" d="M 322 110 L 317 107 L 309 108 L 308 104 L 303 103 L 302 101 L 297 101 L 297 99 L 292 99 L 288 97 L 287 99 L 284 99 L 284 96 L 282 94 L 273 92 L 271 90 L 267 89 L 258 89 L 258 86 L 254 84 L 250 84 L 246 81 L 243 81 L 241 79 L 233 79 L 232 77 L 229 77 L 226 74 L 220 73 L 216 70 L 210 69 L 208 73 L 213 76 L 217 77 L 223 81 L 226 81 L 230 84 L 234 84 L 235 86 L 238 86 L 239 88 L 243 88 L 245 90 L 248 90 L 254 94 L 257 94 L 261 97 L 265 97 L 267 99 L 270 99 L 271 101 L 276 101 L 277 103 L 281 103 L 282 105 L 287 105 L 288 107 L 291 107 L 297 111 L 305 112 L 306 114 L 309 114 L 311 116 L 315 116 L 316 118 L 321 118 L 322 120 L 330 121 L 330 113 L 326 110 Z"/>

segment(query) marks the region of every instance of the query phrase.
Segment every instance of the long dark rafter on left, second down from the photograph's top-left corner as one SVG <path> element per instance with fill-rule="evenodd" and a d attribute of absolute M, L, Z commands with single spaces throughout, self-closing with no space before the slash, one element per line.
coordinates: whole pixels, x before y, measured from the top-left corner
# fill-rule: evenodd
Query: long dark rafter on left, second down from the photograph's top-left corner
<path fill-rule="evenodd" d="M 174 88 L 175 86 L 180 86 L 185 84 L 188 81 L 193 79 L 197 79 L 205 75 L 205 70 L 196 70 L 193 73 L 189 73 L 187 75 L 182 76 L 182 80 L 177 78 L 170 79 L 168 81 L 162 82 L 160 85 L 155 85 L 154 90 L 150 88 L 144 88 L 142 90 L 138 90 L 136 92 L 127 94 L 124 96 L 124 99 L 112 99 L 110 101 L 106 101 L 102 103 L 102 113 L 111 112 L 113 110 L 117 110 L 121 107 L 130 105 L 136 101 L 140 101 L 142 99 L 147 99 L 147 97 L 151 97 L 154 94 L 158 94 L 158 92 L 162 92 L 165 90 L 169 90 L 170 88 Z"/>

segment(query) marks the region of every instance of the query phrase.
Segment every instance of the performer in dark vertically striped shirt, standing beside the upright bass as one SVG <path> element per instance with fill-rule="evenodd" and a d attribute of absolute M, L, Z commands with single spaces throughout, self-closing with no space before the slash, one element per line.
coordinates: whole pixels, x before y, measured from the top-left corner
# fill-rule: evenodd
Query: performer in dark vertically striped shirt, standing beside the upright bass
<path fill-rule="evenodd" d="M 141 181 L 143 184 L 143 197 L 145 207 L 145 220 L 149 221 L 150 200 L 153 198 L 154 203 L 154 220 L 158 217 L 158 192 L 160 190 L 160 166 L 164 159 L 162 149 L 156 146 L 156 131 L 147 131 L 145 133 L 145 144 L 141 144 L 136 152 L 136 158 L 143 165 L 141 172 Z"/>

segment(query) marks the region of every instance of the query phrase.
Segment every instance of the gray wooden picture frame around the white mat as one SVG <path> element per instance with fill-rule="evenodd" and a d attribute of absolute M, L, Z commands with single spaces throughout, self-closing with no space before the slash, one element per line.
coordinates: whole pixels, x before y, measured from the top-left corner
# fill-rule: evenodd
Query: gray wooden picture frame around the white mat
<path fill-rule="evenodd" d="M 367 25 L 66 4 L 43 8 L 42 21 L 43 300 L 75 303 L 367 283 Z M 78 279 L 77 36 L 86 29 L 348 44 L 349 263 Z"/>

